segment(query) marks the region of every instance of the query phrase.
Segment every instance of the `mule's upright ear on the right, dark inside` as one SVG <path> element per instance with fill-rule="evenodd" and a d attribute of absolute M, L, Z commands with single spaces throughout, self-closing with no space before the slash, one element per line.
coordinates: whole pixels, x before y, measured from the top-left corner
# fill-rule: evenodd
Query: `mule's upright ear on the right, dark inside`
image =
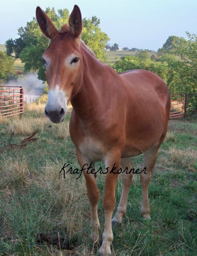
<path fill-rule="evenodd" d="M 80 8 L 75 5 L 69 17 L 70 33 L 73 38 L 78 38 L 82 32 L 82 18 Z"/>

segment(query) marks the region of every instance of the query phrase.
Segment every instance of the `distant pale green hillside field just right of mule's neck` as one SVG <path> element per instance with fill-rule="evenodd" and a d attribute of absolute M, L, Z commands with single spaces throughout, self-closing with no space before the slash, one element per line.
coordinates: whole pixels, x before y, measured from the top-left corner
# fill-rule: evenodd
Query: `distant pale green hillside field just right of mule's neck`
<path fill-rule="evenodd" d="M 114 64 L 116 61 L 120 60 L 122 56 L 133 56 L 136 52 L 133 51 L 106 51 L 105 55 L 105 63 Z M 156 54 L 154 52 L 150 52 L 150 55 Z"/>

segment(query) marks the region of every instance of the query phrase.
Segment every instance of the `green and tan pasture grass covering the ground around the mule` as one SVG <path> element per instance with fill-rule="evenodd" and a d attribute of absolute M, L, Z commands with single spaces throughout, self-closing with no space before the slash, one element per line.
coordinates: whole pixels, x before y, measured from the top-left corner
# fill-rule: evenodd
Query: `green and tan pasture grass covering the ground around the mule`
<path fill-rule="evenodd" d="M 20 143 L 34 129 L 37 141 L 23 149 L 0 154 L 0 255 L 96 255 L 90 241 L 90 205 L 84 177 L 59 172 L 64 163 L 79 167 L 68 127 L 71 113 L 61 124 L 44 117 L 44 104 L 25 106 L 19 118 L 0 119 L 0 146 Z M 140 177 L 130 188 L 122 226 L 113 226 L 113 255 L 195 256 L 197 252 L 197 121 L 170 120 L 149 188 L 151 221 L 140 216 Z M 142 155 L 133 158 L 141 166 Z M 97 163 L 97 166 L 101 163 Z M 97 175 L 100 198 L 105 175 Z M 122 190 L 116 188 L 116 207 Z M 116 210 L 116 209 L 115 209 Z M 102 200 L 98 214 L 104 227 Z M 78 242 L 72 254 L 41 244 L 40 233 L 59 234 Z M 73 254 L 74 253 L 74 254 Z"/>

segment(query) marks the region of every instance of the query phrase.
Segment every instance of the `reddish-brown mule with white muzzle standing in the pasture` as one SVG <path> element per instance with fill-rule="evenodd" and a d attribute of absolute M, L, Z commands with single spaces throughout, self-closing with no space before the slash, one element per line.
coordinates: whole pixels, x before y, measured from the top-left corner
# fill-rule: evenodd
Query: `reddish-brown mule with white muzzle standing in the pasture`
<path fill-rule="evenodd" d="M 150 71 L 132 70 L 122 74 L 100 62 L 81 40 L 82 18 L 74 6 L 69 26 L 57 30 L 50 18 L 36 9 L 37 22 L 50 45 L 42 54 L 49 85 L 45 115 L 53 123 L 64 120 L 67 104 L 72 104 L 70 136 L 81 167 L 103 160 L 105 167 L 132 168 L 131 157 L 144 154 L 146 172 L 140 174 L 142 185 L 141 215 L 150 219 L 148 185 L 157 152 L 167 133 L 170 93 L 165 82 Z M 98 238 L 97 215 L 99 189 L 94 174 L 84 171 L 90 201 L 92 239 Z M 117 213 L 115 188 L 117 173 L 105 174 L 102 199 L 105 228 L 99 252 L 111 254 L 112 221 L 121 223 L 126 213 L 132 172 L 122 174 L 123 189 Z"/>

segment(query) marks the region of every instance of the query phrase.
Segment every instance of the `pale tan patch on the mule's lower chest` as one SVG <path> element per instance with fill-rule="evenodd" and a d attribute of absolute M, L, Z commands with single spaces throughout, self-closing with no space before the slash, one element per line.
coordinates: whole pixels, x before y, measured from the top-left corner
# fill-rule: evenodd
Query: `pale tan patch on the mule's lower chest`
<path fill-rule="evenodd" d="M 99 161 L 103 159 L 104 146 L 100 141 L 92 137 L 84 137 L 79 143 L 78 148 L 82 155 L 91 161 Z"/>

